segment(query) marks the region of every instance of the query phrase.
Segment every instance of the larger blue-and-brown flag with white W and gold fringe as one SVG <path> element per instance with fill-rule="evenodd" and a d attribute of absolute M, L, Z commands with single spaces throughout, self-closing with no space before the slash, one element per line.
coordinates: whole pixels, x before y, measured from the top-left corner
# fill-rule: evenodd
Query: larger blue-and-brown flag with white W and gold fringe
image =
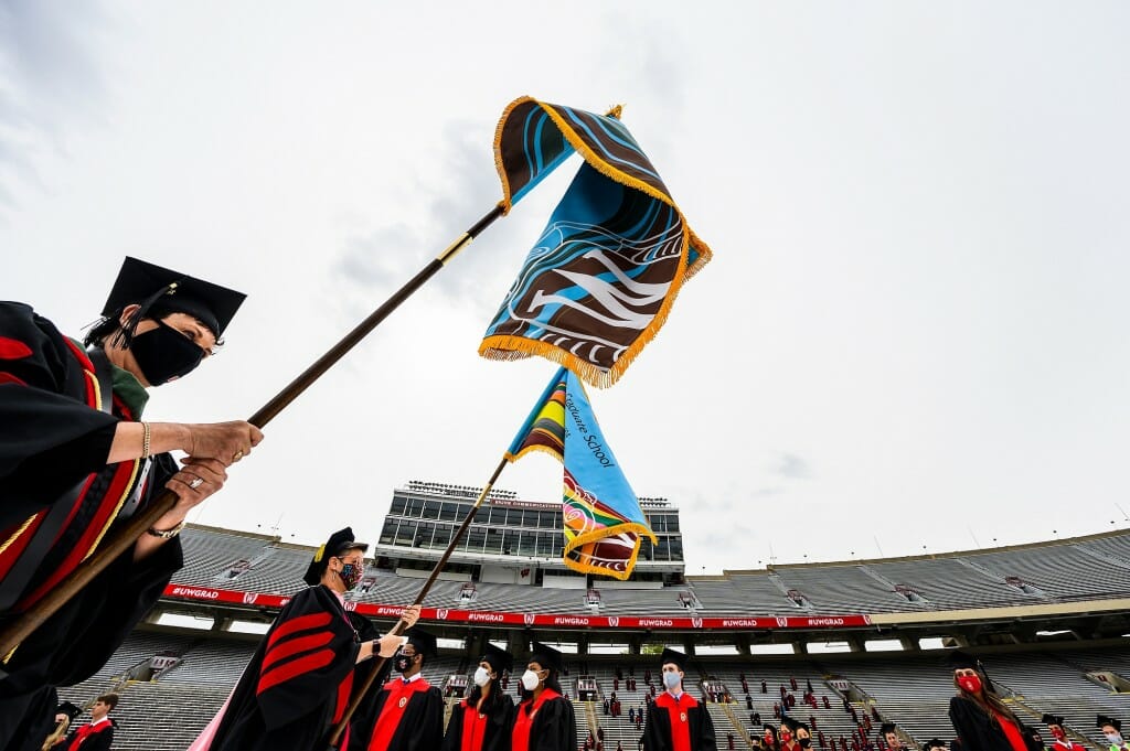
<path fill-rule="evenodd" d="M 538 355 L 610 386 L 710 261 L 618 116 L 529 97 L 503 113 L 495 158 L 506 211 L 573 151 L 584 163 L 487 328 L 484 357 Z"/>

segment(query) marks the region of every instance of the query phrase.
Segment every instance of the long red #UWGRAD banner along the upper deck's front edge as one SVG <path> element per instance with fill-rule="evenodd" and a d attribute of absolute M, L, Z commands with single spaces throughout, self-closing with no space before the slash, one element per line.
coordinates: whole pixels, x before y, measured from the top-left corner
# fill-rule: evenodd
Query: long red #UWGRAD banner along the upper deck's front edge
<path fill-rule="evenodd" d="M 240 592 L 216 587 L 169 584 L 164 596 L 199 602 L 221 602 L 234 605 L 282 608 L 290 597 L 258 592 Z M 346 600 L 346 610 L 376 618 L 399 618 L 401 605 Z M 453 608 L 424 608 L 420 620 L 443 623 L 480 623 L 484 626 L 554 626 L 564 628 L 601 629 L 712 629 L 746 631 L 751 629 L 814 629 L 870 626 L 871 617 L 850 615 L 760 615 L 756 618 L 666 618 L 662 615 L 570 615 L 562 613 L 511 613 L 497 610 L 455 610 Z"/>

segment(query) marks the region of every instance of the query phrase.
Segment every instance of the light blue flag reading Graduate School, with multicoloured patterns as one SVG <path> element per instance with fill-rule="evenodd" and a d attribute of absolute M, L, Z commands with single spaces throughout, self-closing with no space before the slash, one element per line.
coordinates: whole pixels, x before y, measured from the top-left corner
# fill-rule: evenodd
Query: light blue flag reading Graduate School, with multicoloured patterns
<path fill-rule="evenodd" d="M 592 412 L 584 385 L 566 368 L 550 378 L 518 431 L 506 459 L 546 452 L 564 466 L 562 517 L 565 565 L 583 574 L 626 579 L 640 536 L 655 535 Z"/>

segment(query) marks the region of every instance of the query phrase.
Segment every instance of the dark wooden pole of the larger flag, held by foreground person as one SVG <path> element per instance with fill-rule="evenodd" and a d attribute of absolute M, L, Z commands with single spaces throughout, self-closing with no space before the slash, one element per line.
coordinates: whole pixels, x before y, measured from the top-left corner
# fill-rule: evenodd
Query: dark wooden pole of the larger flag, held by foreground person
<path fill-rule="evenodd" d="M 292 381 L 286 388 L 280 391 L 273 399 L 260 408 L 258 412 L 252 414 L 247 419 L 247 422 L 258 428 L 262 428 L 270 422 L 275 416 L 297 399 L 302 392 L 306 391 L 306 388 L 318 381 L 322 374 L 345 357 L 346 352 L 356 347 L 362 339 L 376 329 L 376 326 L 384 321 L 390 313 L 397 309 L 401 303 L 411 297 L 417 289 L 424 286 L 424 282 L 435 276 L 440 269 L 446 265 L 446 263 L 455 256 L 455 254 L 467 247 L 471 241 L 478 237 L 484 229 L 489 227 L 495 219 L 502 217 L 504 213 L 505 209 L 503 204 L 499 203 L 481 219 L 476 221 L 470 229 L 464 232 L 459 239 L 449 245 L 443 253 L 437 255 L 431 263 L 424 267 L 424 269 L 412 277 L 403 287 L 397 290 L 392 297 L 385 300 L 381 307 L 373 311 L 367 318 L 357 324 L 357 326 L 346 334 L 341 341 L 334 344 L 328 352 L 322 355 L 322 357 L 306 368 L 302 375 Z M 95 576 L 101 574 L 106 566 L 111 564 L 111 561 L 115 560 L 119 556 L 132 548 L 138 538 L 145 534 L 146 530 L 151 527 L 157 519 L 172 510 L 175 505 L 176 494 L 168 489 L 163 490 L 156 499 L 147 504 L 144 510 L 130 518 L 119 533 L 114 534 L 99 545 L 93 556 L 82 561 L 46 596 L 35 603 L 32 608 L 28 608 L 27 611 L 0 630 L 0 664 L 10 657 L 11 652 L 15 650 L 24 639 L 34 634 L 37 628 L 51 618 L 51 615 L 67 604 L 67 602 L 78 594 L 82 587 L 89 584 Z M 2 675 L 2 671 L 0 671 L 0 675 Z"/>

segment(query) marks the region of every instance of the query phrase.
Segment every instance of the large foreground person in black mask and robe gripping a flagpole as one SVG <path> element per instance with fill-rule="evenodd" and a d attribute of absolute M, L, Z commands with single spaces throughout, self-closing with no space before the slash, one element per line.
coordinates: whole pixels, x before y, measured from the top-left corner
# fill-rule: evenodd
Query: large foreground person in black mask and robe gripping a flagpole
<path fill-rule="evenodd" d="M 184 516 L 261 439 L 246 422 L 139 421 L 146 388 L 192 370 L 243 297 L 127 259 L 87 348 L 31 306 L 0 303 L 0 623 L 51 593 L 157 492 L 177 495 L 133 549 L 0 655 L 0 750 L 37 749 L 55 687 L 93 675 L 156 603 L 183 565 Z M 190 454 L 183 469 L 173 449 Z"/>

